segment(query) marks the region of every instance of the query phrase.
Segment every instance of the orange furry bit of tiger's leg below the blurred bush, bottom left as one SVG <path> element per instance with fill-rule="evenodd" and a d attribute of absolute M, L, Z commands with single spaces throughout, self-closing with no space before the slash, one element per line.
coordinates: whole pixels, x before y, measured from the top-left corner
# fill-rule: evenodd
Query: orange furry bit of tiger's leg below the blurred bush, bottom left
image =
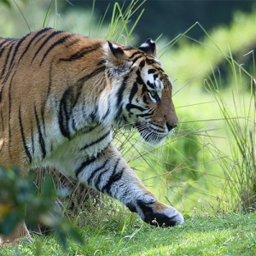
<path fill-rule="evenodd" d="M 18 244 L 20 241 L 33 241 L 25 222 L 20 222 L 9 236 L 0 236 L 0 247 Z"/>

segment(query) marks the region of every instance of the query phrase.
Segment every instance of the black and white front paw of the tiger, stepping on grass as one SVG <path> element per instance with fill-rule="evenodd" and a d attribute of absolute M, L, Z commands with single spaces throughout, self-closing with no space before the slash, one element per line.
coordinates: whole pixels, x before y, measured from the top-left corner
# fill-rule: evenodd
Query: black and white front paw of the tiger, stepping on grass
<path fill-rule="evenodd" d="M 141 218 L 148 224 L 158 224 L 163 227 L 175 226 L 184 222 L 183 215 L 174 207 L 169 207 L 159 201 L 153 204 L 147 204 L 144 201 L 138 201 L 141 211 Z"/>

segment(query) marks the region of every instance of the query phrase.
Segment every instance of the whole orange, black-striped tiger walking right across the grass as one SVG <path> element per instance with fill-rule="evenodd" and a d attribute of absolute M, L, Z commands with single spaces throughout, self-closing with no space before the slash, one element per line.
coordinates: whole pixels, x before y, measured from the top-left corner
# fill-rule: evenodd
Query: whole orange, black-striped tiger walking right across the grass
<path fill-rule="evenodd" d="M 0 38 L 0 165 L 22 175 L 53 167 L 148 224 L 182 224 L 113 143 L 114 127 L 163 143 L 178 122 L 172 86 L 151 38 L 135 48 L 49 27 Z M 24 222 L 1 239 L 32 241 Z"/>

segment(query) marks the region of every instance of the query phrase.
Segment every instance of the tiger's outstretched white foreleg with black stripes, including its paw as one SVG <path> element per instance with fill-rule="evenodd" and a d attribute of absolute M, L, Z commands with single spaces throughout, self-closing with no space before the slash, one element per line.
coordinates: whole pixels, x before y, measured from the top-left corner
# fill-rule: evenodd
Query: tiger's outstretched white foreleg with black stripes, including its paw
<path fill-rule="evenodd" d="M 99 157 L 81 162 L 76 176 L 80 182 L 118 199 L 148 224 L 183 223 L 182 214 L 158 201 L 112 144 Z"/>

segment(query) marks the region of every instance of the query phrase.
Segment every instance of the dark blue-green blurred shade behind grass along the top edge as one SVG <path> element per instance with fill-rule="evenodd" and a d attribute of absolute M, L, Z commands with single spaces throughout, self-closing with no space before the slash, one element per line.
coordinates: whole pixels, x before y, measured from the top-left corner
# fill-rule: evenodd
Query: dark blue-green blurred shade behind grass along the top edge
<path fill-rule="evenodd" d="M 93 0 L 71 0 L 68 2 L 72 3 L 74 8 L 90 9 Z M 69 3 L 63 1 L 61 4 L 61 11 L 63 13 L 70 9 Z M 126 8 L 131 1 L 96 1 L 96 14 L 103 16 L 108 6 L 109 9 L 113 7 L 113 3 L 119 3 L 120 6 L 124 5 L 124 8 Z M 140 22 L 137 24 L 135 34 L 142 41 L 148 37 L 158 38 L 160 34 L 171 40 L 177 34 L 186 31 L 196 21 L 203 24 L 207 31 L 211 30 L 214 26 L 230 25 L 234 12 L 240 10 L 244 13 L 250 13 L 254 6 L 255 1 L 150 0 L 143 4 L 145 11 Z M 108 12 L 106 20 L 109 20 L 110 17 L 111 12 Z M 203 35 L 204 33 L 201 29 L 191 31 L 193 38 L 201 38 Z"/>

